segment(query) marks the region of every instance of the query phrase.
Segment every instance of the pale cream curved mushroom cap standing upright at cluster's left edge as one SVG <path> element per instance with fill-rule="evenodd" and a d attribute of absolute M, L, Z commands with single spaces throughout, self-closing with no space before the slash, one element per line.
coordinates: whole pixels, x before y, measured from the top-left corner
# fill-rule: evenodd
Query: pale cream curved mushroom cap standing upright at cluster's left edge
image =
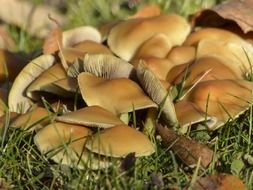
<path fill-rule="evenodd" d="M 42 55 L 28 63 L 16 77 L 10 89 L 8 106 L 10 111 L 26 112 L 32 102 L 25 96 L 25 90 L 34 79 L 54 64 L 52 55 Z"/>

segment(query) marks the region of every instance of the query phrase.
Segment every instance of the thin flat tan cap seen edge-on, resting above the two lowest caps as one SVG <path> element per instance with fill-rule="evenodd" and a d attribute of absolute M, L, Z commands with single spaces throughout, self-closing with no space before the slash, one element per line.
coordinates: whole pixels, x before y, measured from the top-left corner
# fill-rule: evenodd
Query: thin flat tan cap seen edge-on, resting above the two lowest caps
<path fill-rule="evenodd" d="M 89 106 L 56 118 L 57 121 L 85 125 L 89 127 L 109 128 L 124 124 L 111 112 L 100 106 Z"/>

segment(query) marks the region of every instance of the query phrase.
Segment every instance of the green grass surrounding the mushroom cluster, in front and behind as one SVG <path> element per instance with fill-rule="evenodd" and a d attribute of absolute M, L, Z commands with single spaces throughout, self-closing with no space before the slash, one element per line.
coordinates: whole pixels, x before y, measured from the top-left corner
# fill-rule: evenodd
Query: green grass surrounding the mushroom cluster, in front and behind
<path fill-rule="evenodd" d="M 126 5 L 122 1 L 70 0 L 66 28 L 123 18 L 141 4 Z M 116 3 L 115 2 L 122 2 Z M 177 1 L 149 0 L 161 5 L 163 12 L 176 11 L 184 16 L 216 0 Z M 41 1 L 37 0 L 37 3 Z M 120 9 L 119 9 L 120 8 Z M 41 49 L 42 41 L 24 31 L 9 26 L 17 42 L 17 51 L 26 53 Z M 135 116 L 135 114 L 134 114 Z M 106 170 L 79 170 L 61 166 L 43 156 L 33 142 L 34 133 L 6 128 L 0 136 L 0 189 L 1 181 L 11 189 L 182 189 L 198 177 L 215 173 L 239 176 L 248 189 L 253 185 L 252 108 L 234 121 L 214 132 L 192 130 L 191 138 L 207 144 L 215 151 L 213 162 L 206 169 L 185 166 L 171 151 L 156 139 L 156 152 L 149 157 L 137 158 L 133 167 L 122 171 L 117 165 Z M 7 119 L 8 121 L 8 119 Z M 8 122 L 7 122 L 8 123 Z M 135 122 L 134 122 L 135 123 Z M 8 126 L 8 125 L 7 125 Z M 3 185 L 2 185 L 3 186 Z"/>

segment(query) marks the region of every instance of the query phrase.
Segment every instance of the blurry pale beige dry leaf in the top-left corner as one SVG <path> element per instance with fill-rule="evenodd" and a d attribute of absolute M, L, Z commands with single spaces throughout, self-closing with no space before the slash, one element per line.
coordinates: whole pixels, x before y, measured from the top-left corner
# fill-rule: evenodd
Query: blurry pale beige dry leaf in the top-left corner
<path fill-rule="evenodd" d="M 46 5 L 34 6 L 29 1 L 8 0 L 0 1 L 0 19 L 14 24 L 31 35 L 44 38 L 55 24 L 48 18 L 57 20 L 61 25 L 65 17 L 58 14 L 52 7 Z"/>

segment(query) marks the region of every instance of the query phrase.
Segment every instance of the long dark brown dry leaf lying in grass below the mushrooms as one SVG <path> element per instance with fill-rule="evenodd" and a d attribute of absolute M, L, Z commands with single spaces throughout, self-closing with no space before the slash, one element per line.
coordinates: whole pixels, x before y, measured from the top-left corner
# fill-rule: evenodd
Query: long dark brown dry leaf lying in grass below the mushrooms
<path fill-rule="evenodd" d="M 203 167 L 207 167 L 212 162 L 213 151 L 208 146 L 178 135 L 173 129 L 159 124 L 156 129 L 163 143 L 168 147 L 172 145 L 171 149 L 186 165 L 196 165 L 199 158 Z"/>

